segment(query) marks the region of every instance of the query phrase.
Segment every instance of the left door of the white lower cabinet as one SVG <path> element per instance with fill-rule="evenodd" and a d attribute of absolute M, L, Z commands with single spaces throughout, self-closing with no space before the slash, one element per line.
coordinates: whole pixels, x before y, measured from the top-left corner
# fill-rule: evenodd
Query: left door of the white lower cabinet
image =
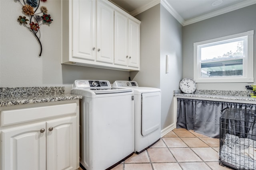
<path fill-rule="evenodd" d="M 46 170 L 45 128 L 44 122 L 3 130 L 2 170 Z"/>

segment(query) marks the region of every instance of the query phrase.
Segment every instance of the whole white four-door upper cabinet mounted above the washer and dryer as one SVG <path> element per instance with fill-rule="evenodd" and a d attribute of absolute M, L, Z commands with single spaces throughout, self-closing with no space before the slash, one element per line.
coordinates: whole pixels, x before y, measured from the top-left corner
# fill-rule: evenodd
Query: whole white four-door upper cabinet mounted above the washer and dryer
<path fill-rule="evenodd" d="M 107 0 L 62 0 L 62 64 L 139 70 L 139 36 L 140 21 Z"/>

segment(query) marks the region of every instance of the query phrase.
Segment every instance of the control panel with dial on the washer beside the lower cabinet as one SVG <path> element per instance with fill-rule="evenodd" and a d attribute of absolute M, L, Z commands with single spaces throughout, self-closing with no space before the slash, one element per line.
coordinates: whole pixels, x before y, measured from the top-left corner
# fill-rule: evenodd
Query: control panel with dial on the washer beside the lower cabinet
<path fill-rule="evenodd" d="M 108 80 L 76 80 L 73 84 L 73 88 L 110 88 L 110 82 Z"/>

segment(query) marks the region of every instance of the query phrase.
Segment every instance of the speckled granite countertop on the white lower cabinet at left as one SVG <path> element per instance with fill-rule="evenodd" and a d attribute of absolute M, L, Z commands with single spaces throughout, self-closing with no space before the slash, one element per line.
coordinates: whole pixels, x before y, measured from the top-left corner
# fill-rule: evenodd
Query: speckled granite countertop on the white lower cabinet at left
<path fill-rule="evenodd" d="M 56 102 L 81 99 L 82 96 L 65 94 L 64 87 L 0 88 L 0 106 Z"/>

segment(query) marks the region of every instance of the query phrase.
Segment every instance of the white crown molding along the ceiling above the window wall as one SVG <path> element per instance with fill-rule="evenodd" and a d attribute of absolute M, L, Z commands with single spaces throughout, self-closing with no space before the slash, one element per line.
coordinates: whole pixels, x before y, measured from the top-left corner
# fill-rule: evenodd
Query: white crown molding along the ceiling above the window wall
<path fill-rule="evenodd" d="M 256 4 L 256 0 L 247 0 L 247 1 L 244 1 L 244 2 L 240 2 L 238 4 L 223 8 L 221 10 L 217 10 L 217 11 L 211 12 L 209 14 L 206 14 L 206 15 L 203 15 L 203 16 L 200 16 L 200 17 L 196 17 L 196 18 L 193 18 L 191 20 L 184 21 L 184 23 L 182 25 L 185 26 L 185 25 L 189 25 L 189 24 L 192 24 L 192 23 L 196 23 L 196 22 L 199 22 L 199 21 L 202 21 L 202 20 L 206 20 L 208 18 L 212 18 L 212 17 L 218 16 L 218 15 L 221 15 L 221 14 L 225 14 L 225 13 L 228 13 L 228 12 L 231 12 L 231 11 L 234 11 L 234 10 L 238 10 L 240 8 L 244 8 L 246 6 L 250 6 L 250 5 L 253 5 L 253 4 Z"/>

